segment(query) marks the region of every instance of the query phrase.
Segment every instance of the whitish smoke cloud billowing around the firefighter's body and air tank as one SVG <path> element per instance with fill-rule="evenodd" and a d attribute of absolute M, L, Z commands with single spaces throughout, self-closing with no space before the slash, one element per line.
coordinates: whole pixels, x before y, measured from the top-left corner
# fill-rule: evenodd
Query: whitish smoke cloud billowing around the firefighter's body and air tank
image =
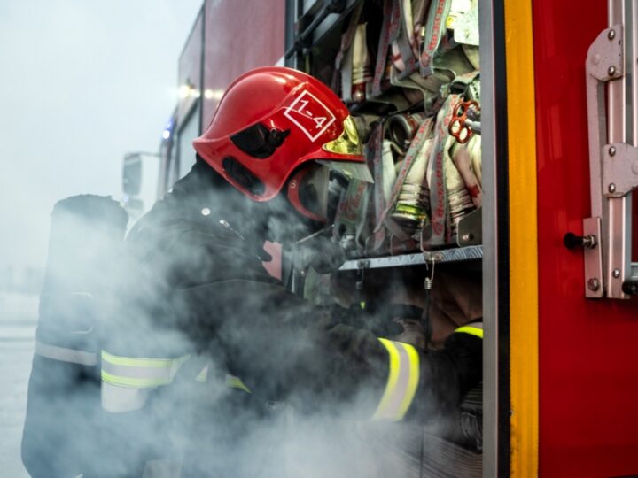
<path fill-rule="evenodd" d="M 420 476 L 443 469 L 446 465 L 437 463 L 446 448 L 437 436 L 449 424 L 436 417 L 425 424 L 368 420 L 383 391 L 379 379 L 367 380 L 369 371 L 362 369 L 356 395 L 343 396 L 339 382 L 349 380 L 352 370 L 344 373 L 331 359 L 338 344 L 317 342 L 313 335 L 330 321 L 316 324 L 321 314 L 312 312 L 312 305 L 291 302 L 280 289 L 264 296 L 251 281 L 233 277 L 246 270 L 250 279 L 246 261 L 260 253 L 265 236 L 306 234 L 287 220 L 289 206 L 268 204 L 264 221 L 255 209 L 263 204 L 249 203 L 234 190 L 194 186 L 200 192 L 189 211 L 215 231 L 208 238 L 195 235 L 198 243 L 180 227 L 161 235 L 164 243 L 153 243 L 159 235 L 152 223 L 143 222 L 144 240 L 125 251 L 113 218 L 96 224 L 95 207 L 82 211 L 79 222 L 77 216 L 56 222 L 54 215 L 39 339 L 62 341 L 97 357 L 105 348 L 124 356 L 133 351 L 142 357 L 190 358 L 170 385 L 147 392 L 140 411 L 109 413 L 100 406 L 99 361 L 78 366 L 35 356 L 23 443 L 29 472 L 166 476 L 166 463 L 154 461 L 166 459 L 181 464 L 174 466 L 175 476 Z M 179 188 L 172 194 L 189 199 Z M 211 208 L 207 217 L 200 214 L 203 206 Z M 223 231 L 216 224 L 220 219 L 231 228 Z M 202 231 L 206 234 L 206 227 Z M 213 243 L 220 231 L 225 235 L 221 255 L 208 249 L 220 247 Z M 157 253 L 163 250 L 172 254 Z M 403 299 L 410 293 L 403 290 Z M 337 297 L 346 306 L 354 301 L 344 290 Z M 324 315 L 330 313 L 326 309 Z M 388 322 L 379 309 L 356 325 Z M 236 355 L 226 355 L 221 343 L 237 344 Z M 228 368 L 232 363 L 251 364 L 253 374 L 240 378 L 253 393 L 226 386 L 225 375 L 236 373 Z M 206 382 L 195 380 L 205 366 Z M 476 455 L 466 454 L 476 461 Z M 163 471 L 153 474 L 155 466 Z"/>

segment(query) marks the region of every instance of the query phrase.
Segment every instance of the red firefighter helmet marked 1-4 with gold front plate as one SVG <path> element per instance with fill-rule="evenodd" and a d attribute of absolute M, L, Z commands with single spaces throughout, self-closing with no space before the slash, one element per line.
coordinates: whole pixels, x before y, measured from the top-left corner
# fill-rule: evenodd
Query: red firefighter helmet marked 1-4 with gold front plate
<path fill-rule="evenodd" d="M 290 68 L 267 66 L 239 76 L 193 146 L 226 181 L 258 202 L 276 197 L 295 170 L 314 160 L 372 181 L 346 106 L 321 81 Z M 297 191 L 288 196 L 308 215 L 295 204 L 302 182 L 316 181 L 293 178 Z"/>

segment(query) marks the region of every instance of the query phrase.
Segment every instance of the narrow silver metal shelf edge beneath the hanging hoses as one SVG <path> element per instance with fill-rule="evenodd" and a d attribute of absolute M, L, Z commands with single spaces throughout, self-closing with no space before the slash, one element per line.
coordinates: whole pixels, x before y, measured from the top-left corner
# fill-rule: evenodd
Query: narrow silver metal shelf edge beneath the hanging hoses
<path fill-rule="evenodd" d="M 421 266 L 432 262 L 461 262 L 483 258 L 482 246 L 457 247 L 441 249 L 440 251 L 425 251 L 401 256 L 386 256 L 383 258 L 360 258 L 347 260 L 339 271 L 356 271 L 359 269 L 377 269 L 381 267 Z"/>

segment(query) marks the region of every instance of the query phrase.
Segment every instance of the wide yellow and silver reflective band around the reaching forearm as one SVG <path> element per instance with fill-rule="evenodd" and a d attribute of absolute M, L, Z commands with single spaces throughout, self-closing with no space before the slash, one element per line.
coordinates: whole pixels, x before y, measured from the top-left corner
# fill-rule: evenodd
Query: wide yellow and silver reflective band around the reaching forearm
<path fill-rule="evenodd" d="M 419 382 L 419 354 L 416 349 L 402 342 L 378 339 L 389 356 L 388 381 L 384 395 L 372 420 L 401 420 L 416 394 Z"/>

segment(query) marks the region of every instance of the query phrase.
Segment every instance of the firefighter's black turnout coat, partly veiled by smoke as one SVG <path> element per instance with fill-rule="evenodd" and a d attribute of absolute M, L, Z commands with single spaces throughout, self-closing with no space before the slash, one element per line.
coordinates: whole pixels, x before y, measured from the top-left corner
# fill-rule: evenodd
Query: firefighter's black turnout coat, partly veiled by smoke
<path fill-rule="evenodd" d="M 128 235 L 105 350 L 189 358 L 174 382 L 152 390 L 144 409 L 113 416 L 113 433 L 127 443 L 121 453 L 131 462 L 142 449 L 143 461 L 179 454 L 183 469 L 210 471 L 228 460 L 220 474 L 253 474 L 246 463 L 268 461 L 279 439 L 251 430 L 281 422 L 282 403 L 298 416 L 370 418 L 385 390 L 388 353 L 346 309 L 311 305 L 271 277 L 261 263 L 263 241 L 232 199 L 238 193 L 225 197 L 216 188 L 216 173 L 198 161 Z M 456 335 L 444 350 L 422 352 L 405 420 L 446 413 L 480 381 L 480 339 Z M 245 389 L 227 387 L 226 375 Z M 255 443 L 264 442 L 262 453 Z"/>

